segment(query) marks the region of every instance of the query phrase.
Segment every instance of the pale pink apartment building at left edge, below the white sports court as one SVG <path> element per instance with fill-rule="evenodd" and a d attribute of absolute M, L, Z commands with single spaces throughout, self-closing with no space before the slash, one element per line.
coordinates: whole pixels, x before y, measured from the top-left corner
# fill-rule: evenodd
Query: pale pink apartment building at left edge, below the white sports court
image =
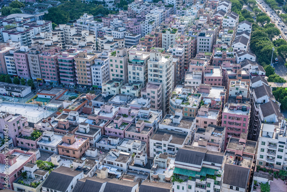
<path fill-rule="evenodd" d="M 0 127 L 2 127 L 2 132 L 5 133 L 5 130 L 9 131 L 8 136 L 13 139 L 14 147 L 16 147 L 16 138 L 21 134 L 23 127 L 28 126 L 27 117 L 23 117 L 19 114 L 10 114 L 5 111 L 1 111 L 1 114 Z"/>

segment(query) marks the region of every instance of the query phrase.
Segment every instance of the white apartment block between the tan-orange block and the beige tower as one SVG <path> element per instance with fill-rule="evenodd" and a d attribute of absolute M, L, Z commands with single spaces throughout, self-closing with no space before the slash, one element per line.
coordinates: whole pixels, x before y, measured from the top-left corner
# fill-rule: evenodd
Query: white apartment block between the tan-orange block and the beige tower
<path fill-rule="evenodd" d="M 109 58 L 101 55 L 95 58 L 95 64 L 91 66 L 92 87 L 102 91 L 102 83 L 110 79 Z"/>

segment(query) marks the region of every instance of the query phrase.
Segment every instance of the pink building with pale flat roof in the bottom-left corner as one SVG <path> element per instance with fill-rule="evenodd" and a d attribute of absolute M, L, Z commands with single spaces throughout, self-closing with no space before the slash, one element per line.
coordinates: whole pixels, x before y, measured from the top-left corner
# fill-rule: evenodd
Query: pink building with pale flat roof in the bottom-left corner
<path fill-rule="evenodd" d="M 18 177 L 21 177 L 21 170 L 27 163 L 36 162 L 36 156 L 29 151 L 22 151 L 20 149 L 10 149 L 9 151 L 3 151 L 0 153 L 0 183 L 2 189 L 14 190 L 13 181 Z M 8 161 L 8 162 L 7 162 Z M 5 164 L 8 164 L 8 170 L 5 168 Z M 8 181 L 5 178 L 8 177 Z"/>

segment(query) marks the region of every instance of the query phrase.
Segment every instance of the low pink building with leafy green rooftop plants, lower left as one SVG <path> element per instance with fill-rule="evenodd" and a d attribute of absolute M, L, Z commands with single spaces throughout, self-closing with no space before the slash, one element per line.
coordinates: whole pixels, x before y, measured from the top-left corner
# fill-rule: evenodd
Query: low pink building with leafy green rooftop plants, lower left
<path fill-rule="evenodd" d="M 21 135 L 19 135 L 17 139 L 18 146 L 26 147 L 26 148 L 38 148 L 37 141 L 42 139 L 42 137 L 35 137 L 33 133 L 42 133 L 40 130 L 34 130 L 32 127 L 25 126 L 21 131 Z"/>

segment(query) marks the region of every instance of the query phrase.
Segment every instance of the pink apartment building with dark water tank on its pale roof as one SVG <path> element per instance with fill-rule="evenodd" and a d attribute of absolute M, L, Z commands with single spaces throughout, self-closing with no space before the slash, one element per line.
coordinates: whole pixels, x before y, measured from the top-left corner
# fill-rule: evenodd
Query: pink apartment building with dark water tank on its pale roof
<path fill-rule="evenodd" d="M 230 137 L 240 138 L 241 133 L 247 134 L 250 116 L 249 101 L 235 103 L 236 99 L 229 97 L 222 111 L 222 124 L 225 127 L 224 150 L 228 145 Z M 232 102 L 232 103 L 230 103 Z"/>

